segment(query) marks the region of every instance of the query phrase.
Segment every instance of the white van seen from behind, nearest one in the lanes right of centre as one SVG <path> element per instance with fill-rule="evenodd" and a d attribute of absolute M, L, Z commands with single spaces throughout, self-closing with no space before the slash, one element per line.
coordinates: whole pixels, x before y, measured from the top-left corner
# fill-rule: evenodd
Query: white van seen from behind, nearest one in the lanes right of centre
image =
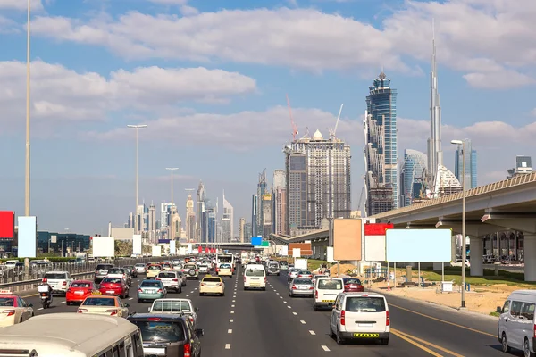
<path fill-rule="evenodd" d="M 340 293 L 331 310 L 330 336 L 337 343 L 378 340 L 389 345 L 390 317 L 385 296 L 376 293 Z"/>

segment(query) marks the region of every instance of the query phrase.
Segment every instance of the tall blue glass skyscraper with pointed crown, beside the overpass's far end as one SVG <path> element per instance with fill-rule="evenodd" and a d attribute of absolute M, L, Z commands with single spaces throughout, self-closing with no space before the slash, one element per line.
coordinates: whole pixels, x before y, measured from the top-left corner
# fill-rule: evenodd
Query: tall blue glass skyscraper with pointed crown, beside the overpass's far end
<path fill-rule="evenodd" d="M 364 186 L 367 216 L 398 208 L 397 90 L 383 71 L 366 97 Z"/>

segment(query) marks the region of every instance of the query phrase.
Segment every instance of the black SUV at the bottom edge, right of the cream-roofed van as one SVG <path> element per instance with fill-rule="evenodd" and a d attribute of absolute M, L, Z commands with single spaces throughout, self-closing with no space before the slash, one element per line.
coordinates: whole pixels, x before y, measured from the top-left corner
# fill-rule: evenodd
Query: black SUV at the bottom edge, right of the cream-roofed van
<path fill-rule="evenodd" d="M 134 313 L 128 320 L 141 331 L 144 349 L 163 349 L 165 356 L 201 356 L 203 330 L 195 329 L 184 313 Z"/>

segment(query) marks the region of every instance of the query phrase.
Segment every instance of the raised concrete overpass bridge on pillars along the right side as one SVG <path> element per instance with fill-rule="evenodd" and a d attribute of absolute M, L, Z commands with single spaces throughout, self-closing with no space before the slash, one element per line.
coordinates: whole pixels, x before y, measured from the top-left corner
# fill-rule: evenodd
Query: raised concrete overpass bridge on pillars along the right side
<path fill-rule="evenodd" d="M 451 228 L 462 233 L 462 193 L 415 203 L 375 214 L 370 220 L 395 228 Z M 470 238 L 471 275 L 482 276 L 486 236 L 504 230 L 520 231 L 514 250 L 520 250 L 525 280 L 536 281 L 536 172 L 465 191 L 465 234 Z M 493 242 L 491 249 L 493 249 Z M 497 237 L 498 251 L 500 239 Z M 510 251 L 507 246 L 507 251 Z"/>

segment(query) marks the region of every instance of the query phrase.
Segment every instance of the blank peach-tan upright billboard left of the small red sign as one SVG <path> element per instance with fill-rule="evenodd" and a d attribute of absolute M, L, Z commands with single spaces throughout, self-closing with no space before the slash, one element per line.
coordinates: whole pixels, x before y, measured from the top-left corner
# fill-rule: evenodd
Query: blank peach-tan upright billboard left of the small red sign
<path fill-rule="evenodd" d="M 333 259 L 361 261 L 361 219 L 333 220 Z"/>

